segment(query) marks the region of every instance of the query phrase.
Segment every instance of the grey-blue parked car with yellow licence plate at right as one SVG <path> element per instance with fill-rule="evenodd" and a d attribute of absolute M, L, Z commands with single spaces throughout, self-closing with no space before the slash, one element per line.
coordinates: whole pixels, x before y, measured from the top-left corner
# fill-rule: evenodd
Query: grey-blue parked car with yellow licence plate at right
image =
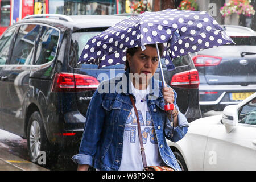
<path fill-rule="evenodd" d="M 256 34 L 242 26 L 222 25 L 235 45 L 191 54 L 199 71 L 199 100 L 203 112 L 221 111 L 256 92 Z"/>

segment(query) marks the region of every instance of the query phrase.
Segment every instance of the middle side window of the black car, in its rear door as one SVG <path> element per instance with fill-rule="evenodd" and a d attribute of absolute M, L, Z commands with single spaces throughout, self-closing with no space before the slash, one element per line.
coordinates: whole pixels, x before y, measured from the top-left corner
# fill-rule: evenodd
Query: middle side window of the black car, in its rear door
<path fill-rule="evenodd" d="M 20 26 L 10 64 L 32 64 L 40 29 L 41 26 L 36 24 Z"/>

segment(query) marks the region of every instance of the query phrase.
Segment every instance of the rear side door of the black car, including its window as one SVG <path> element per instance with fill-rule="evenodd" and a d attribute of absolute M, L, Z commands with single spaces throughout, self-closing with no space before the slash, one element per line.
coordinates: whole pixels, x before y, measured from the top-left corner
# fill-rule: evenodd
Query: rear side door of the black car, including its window
<path fill-rule="evenodd" d="M 5 72 L 6 102 L 3 115 L 4 129 L 15 134 L 23 133 L 23 105 L 28 90 L 29 73 L 34 59 L 36 42 L 41 30 L 37 24 L 22 24 L 16 36 L 10 64 Z"/>

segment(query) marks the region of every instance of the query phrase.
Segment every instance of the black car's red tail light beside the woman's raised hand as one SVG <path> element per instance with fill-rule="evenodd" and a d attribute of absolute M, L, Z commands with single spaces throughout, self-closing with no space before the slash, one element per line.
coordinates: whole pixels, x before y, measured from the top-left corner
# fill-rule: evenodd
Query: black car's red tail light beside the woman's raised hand
<path fill-rule="evenodd" d="M 198 88 L 198 71 L 196 69 L 192 69 L 189 71 L 176 73 L 174 76 L 172 76 L 171 85 L 183 88 Z"/>

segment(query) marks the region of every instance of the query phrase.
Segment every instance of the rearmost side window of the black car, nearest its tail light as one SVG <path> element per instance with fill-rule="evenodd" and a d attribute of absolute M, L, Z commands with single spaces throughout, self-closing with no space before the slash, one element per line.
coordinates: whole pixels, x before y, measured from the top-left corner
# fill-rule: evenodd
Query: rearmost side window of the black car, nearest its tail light
<path fill-rule="evenodd" d="M 42 27 L 34 64 L 44 64 L 53 60 L 56 55 L 59 36 L 59 31 L 51 27 Z"/>

